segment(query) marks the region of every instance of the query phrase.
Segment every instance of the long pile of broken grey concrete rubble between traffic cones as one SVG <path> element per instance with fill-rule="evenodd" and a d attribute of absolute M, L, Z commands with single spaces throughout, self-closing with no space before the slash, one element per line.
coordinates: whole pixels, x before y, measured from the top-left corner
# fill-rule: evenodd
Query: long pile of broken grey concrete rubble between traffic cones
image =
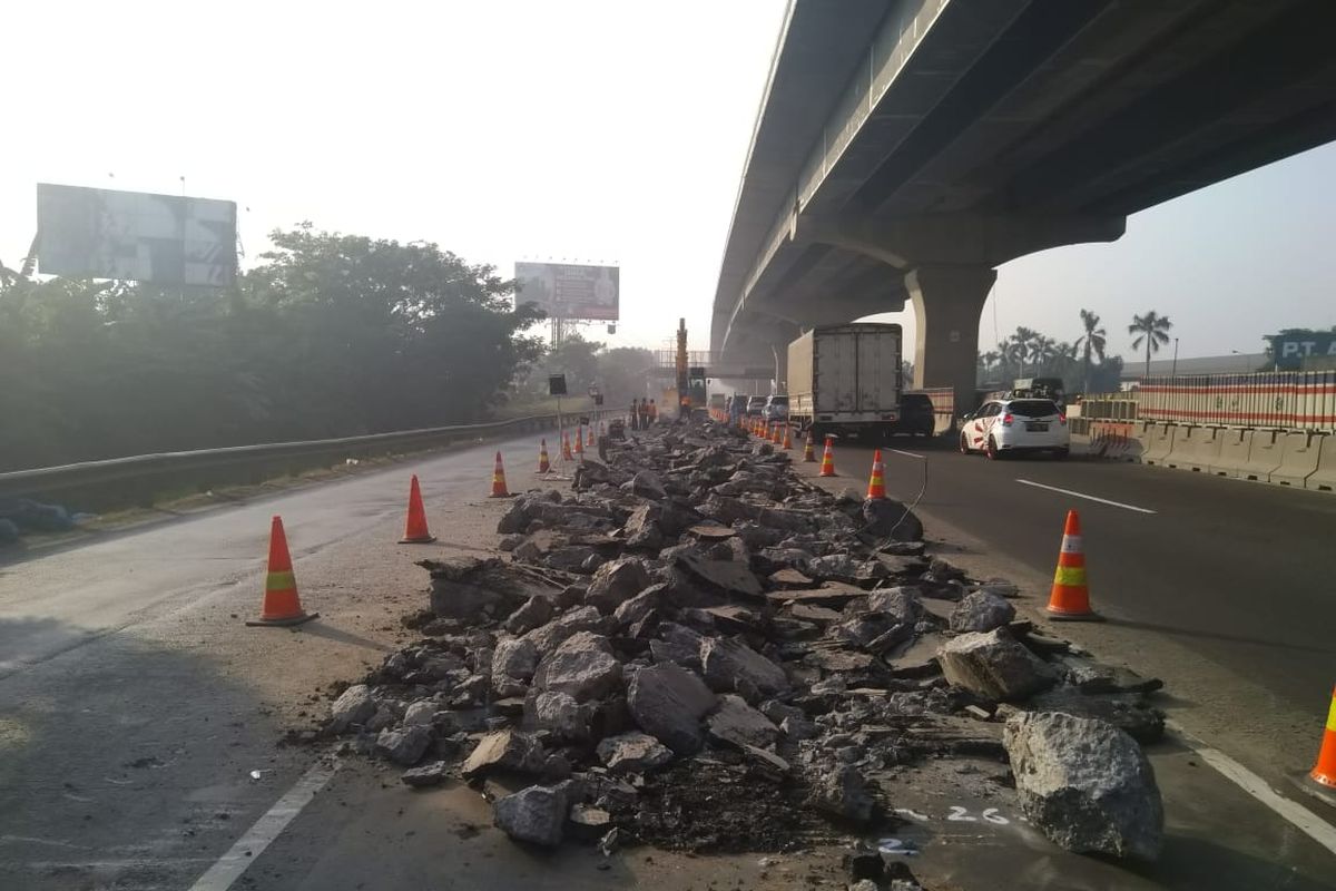
<path fill-rule="evenodd" d="M 1017 621 L 1014 588 L 931 558 L 903 505 L 735 429 L 605 454 L 517 497 L 502 554 L 422 561 L 421 640 L 326 729 L 410 785 L 474 784 L 541 846 L 848 842 L 894 824 L 896 775 L 985 757 L 1059 844 L 1156 856 L 1157 681 Z"/>

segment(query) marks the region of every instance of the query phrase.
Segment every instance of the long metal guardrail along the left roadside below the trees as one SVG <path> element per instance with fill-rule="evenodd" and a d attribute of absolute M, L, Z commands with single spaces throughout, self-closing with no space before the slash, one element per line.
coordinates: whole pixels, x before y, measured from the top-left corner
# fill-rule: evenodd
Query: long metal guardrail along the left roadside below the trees
<path fill-rule="evenodd" d="M 589 417 L 593 421 L 623 414 L 616 409 L 573 411 L 562 414 L 570 421 Z M 254 469 L 261 472 L 274 466 L 294 466 L 313 458 L 333 456 L 369 456 L 382 452 L 417 450 L 433 445 L 448 445 L 493 434 L 533 433 L 557 426 L 556 414 L 532 415 L 490 423 L 464 423 L 448 427 L 424 427 L 394 433 L 371 433 L 338 439 L 306 439 L 298 442 L 271 442 L 266 445 L 199 449 L 194 452 L 163 452 L 106 461 L 86 461 L 53 468 L 33 468 L 0 473 L 0 497 L 51 496 L 72 490 L 108 488 L 143 489 L 144 484 L 175 478 L 210 478 L 222 470 Z M 307 466 L 310 466 L 307 464 Z"/>

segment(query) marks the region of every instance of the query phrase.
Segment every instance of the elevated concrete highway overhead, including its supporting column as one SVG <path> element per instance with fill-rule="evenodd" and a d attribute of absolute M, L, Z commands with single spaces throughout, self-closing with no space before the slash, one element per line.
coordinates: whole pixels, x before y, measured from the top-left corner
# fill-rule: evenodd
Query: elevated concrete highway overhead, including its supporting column
<path fill-rule="evenodd" d="M 794 0 L 712 349 L 918 317 L 914 386 L 974 389 L 995 267 L 1336 139 L 1327 0 Z"/>

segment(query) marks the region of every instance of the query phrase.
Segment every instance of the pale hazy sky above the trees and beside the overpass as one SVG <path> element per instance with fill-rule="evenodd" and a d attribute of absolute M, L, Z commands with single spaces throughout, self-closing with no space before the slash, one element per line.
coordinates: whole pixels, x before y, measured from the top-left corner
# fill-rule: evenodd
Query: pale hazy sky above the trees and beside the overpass
<path fill-rule="evenodd" d="M 611 345 L 704 349 L 724 238 L 783 0 L 640 4 L 11 4 L 0 91 L 0 262 L 35 230 L 37 182 L 239 204 L 266 232 L 429 239 L 509 275 L 516 259 L 617 260 Z M 114 178 L 111 176 L 114 175 Z M 1018 325 L 1113 351 L 1168 314 L 1181 355 L 1260 351 L 1336 323 L 1336 147 L 1129 220 L 1108 246 L 1005 266 L 985 347 Z M 912 327 L 911 314 L 898 321 Z M 912 331 L 907 331 L 912 335 Z"/>

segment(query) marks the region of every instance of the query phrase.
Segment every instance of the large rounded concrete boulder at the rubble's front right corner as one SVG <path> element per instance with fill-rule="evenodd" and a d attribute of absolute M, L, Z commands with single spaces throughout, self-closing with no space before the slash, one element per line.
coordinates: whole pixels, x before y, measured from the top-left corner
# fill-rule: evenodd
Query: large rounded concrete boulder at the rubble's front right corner
<path fill-rule="evenodd" d="M 1031 712 L 1007 721 L 1021 810 L 1069 851 L 1154 860 L 1164 806 L 1154 771 L 1130 736 L 1098 720 Z"/>

